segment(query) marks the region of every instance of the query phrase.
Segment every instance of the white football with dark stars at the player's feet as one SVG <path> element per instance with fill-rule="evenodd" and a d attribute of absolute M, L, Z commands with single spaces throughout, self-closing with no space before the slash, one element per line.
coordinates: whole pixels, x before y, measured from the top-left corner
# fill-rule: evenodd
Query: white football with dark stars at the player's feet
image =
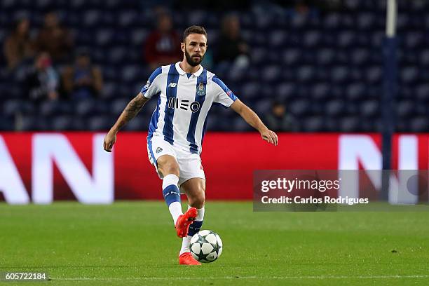
<path fill-rule="evenodd" d="M 214 231 L 199 231 L 191 238 L 191 254 L 200 262 L 213 262 L 222 254 L 222 249 L 222 240 Z"/>

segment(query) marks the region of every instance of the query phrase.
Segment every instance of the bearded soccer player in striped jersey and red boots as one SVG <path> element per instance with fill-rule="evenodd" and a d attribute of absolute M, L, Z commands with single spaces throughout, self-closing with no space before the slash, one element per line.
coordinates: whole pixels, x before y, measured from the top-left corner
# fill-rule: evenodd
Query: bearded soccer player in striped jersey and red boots
<path fill-rule="evenodd" d="M 207 50 L 207 32 L 203 27 L 185 29 L 180 46 L 182 62 L 158 67 L 149 76 L 141 92 L 128 103 L 104 137 L 104 150 L 111 151 L 118 130 L 134 118 L 151 97 L 156 97 L 158 105 L 147 137 L 149 161 L 163 179 L 165 202 L 177 236 L 183 238 L 179 264 L 200 265 L 193 259 L 189 244 L 204 219 L 205 175 L 200 154 L 210 107 L 213 103 L 231 107 L 271 144 L 277 145 L 278 137 L 220 79 L 200 65 Z M 180 204 L 180 191 L 188 198 L 185 213 Z"/>

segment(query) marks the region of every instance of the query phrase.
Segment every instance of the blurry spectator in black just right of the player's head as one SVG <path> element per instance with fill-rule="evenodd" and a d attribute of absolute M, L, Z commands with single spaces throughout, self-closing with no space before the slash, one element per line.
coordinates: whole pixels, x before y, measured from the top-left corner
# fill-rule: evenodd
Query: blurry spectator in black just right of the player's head
<path fill-rule="evenodd" d="M 240 34 L 240 19 L 236 15 L 227 15 L 222 20 L 222 34 L 217 43 L 214 62 L 231 62 L 239 67 L 247 67 L 250 50 Z"/>

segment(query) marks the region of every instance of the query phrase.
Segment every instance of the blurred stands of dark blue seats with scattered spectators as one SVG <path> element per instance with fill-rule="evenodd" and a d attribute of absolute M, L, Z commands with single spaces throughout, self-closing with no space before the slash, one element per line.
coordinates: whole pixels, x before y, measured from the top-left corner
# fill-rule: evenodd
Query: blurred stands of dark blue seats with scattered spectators
<path fill-rule="evenodd" d="M 399 1 L 398 132 L 429 131 L 429 1 Z M 207 29 L 203 66 L 266 124 L 379 132 L 386 0 L 0 1 L 0 130 L 108 130 L 151 71 Z M 147 130 L 156 100 L 125 130 Z M 209 130 L 247 131 L 213 107 Z"/>

